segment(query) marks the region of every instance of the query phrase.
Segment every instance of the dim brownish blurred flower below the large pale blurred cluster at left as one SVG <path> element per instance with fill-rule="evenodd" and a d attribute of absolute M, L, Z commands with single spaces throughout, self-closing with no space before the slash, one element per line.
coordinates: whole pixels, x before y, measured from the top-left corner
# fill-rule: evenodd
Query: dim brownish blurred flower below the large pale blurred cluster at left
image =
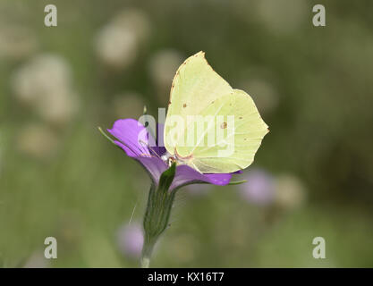
<path fill-rule="evenodd" d="M 55 133 L 47 126 L 30 124 L 18 133 L 16 147 L 29 156 L 45 159 L 53 155 L 58 142 Z"/>

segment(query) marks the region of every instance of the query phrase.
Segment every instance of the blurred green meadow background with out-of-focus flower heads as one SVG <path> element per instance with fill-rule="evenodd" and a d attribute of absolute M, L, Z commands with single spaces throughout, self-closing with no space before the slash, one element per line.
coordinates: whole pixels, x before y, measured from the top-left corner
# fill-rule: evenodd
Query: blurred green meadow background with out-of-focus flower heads
<path fill-rule="evenodd" d="M 326 27 L 312 25 L 325 4 Z M 44 25 L 56 4 L 58 26 Z M 181 189 L 158 267 L 373 266 L 373 2 L 1 0 L 0 265 L 136 267 L 149 179 L 97 131 L 203 50 L 271 132 L 240 186 Z M 44 240 L 58 258 L 44 258 Z M 326 259 L 312 240 L 326 240 Z"/>

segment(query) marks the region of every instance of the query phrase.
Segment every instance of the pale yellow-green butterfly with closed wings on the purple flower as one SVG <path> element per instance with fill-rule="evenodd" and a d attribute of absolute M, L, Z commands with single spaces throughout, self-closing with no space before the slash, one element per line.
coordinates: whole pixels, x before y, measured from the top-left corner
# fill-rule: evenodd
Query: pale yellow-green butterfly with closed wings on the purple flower
<path fill-rule="evenodd" d="M 164 132 L 172 162 L 202 173 L 236 172 L 253 162 L 268 131 L 252 98 L 218 75 L 204 52 L 176 71 Z"/>

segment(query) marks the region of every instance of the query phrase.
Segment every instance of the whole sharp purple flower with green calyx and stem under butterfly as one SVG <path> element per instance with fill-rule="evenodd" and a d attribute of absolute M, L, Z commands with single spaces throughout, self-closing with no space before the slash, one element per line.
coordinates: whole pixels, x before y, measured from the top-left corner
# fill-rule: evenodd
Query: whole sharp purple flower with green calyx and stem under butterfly
<path fill-rule="evenodd" d="M 158 136 L 163 138 L 163 125 L 158 125 Z M 101 132 L 102 130 L 99 129 Z M 150 256 L 159 236 L 169 225 L 171 209 L 176 190 L 194 183 L 226 185 L 230 183 L 232 173 L 201 173 L 186 164 L 169 164 L 169 154 L 165 147 L 156 144 L 156 140 L 140 122 L 134 119 L 120 119 L 113 128 L 107 130 L 115 140 L 117 147 L 138 161 L 148 172 L 152 184 L 148 192 L 148 204 L 143 219 L 143 243 L 141 266 L 148 267 Z M 240 173 L 240 172 L 235 172 Z M 231 182 L 233 183 L 241 183 Z M 140 235 L 136 235 L 136 237 Z M 132 240 L 132 237 L 130 237 Z M 135 243 L 135 246 L 138 246 Z M 124 246 L 125 247 L 125 246 Z M 133 245 L 131 245 L 131 248 Z M 133 247 L 135 248 L 135 247 Z"/>

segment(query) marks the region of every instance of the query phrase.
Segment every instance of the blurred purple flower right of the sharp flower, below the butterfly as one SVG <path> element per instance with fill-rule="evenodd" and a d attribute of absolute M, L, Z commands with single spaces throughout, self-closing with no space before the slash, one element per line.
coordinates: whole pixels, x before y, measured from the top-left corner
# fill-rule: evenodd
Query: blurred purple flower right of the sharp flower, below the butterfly
<path fill-rule="evenodd" d="M 274 178 L 266 171 L 254 169 L 246 173 L 246 183 L 240 187 L 242 198 L 259 206 L 271 204 L 276 197 Z"/>

